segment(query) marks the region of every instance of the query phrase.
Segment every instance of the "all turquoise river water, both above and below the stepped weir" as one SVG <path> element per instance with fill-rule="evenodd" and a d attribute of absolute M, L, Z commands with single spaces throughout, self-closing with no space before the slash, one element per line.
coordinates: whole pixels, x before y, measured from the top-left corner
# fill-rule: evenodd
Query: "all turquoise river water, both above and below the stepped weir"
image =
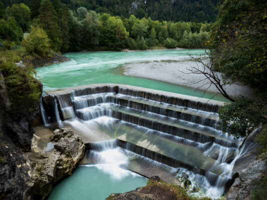
<path fill-rule="evenodd" d="M 71 52 L 64 55 L 72 60 L 52 64 L 37 69 L 44 84 L 44 91 L 93 83 L 120 83 L 152 89 L 170 91 L 192 96 L 211 98 L 214 93 L 195 90 L 191 87 L 167 82 L 127 76 L 121 66 L 128 63 L 171 60 L 174 62 L 189 59 L 188 50 L 153 50 L 137 52 Z M 193 55 L 202 54 L 202 49 L 191 50 Z M 213 99 L 223 100 L 222 96 Z M 119 152 L 120 153 L 120 152 Z M 112 152 L 114 155 L 114 152 Z M 102 155 L 101 155 L 102 156 Z M 110 153 L 103 157 L 112 157 Z M 120 156 L 113 156 L 114 159 Z M 128 158 L 125 158 L 127 161 Z M 116 160 L 104 161 L 104 164 L 79 166 L 73 175 L 56 185 L 48 199 L 104 199 L 110 193 L 125 192 L 144 186 L 147 179 L 117 164 Z M 114 164 L 115 163 L 115 164 Z M 223 191 L 223 189 L 222 189 Z M 219 192 L 220 193 L 220 192 Z"/>

